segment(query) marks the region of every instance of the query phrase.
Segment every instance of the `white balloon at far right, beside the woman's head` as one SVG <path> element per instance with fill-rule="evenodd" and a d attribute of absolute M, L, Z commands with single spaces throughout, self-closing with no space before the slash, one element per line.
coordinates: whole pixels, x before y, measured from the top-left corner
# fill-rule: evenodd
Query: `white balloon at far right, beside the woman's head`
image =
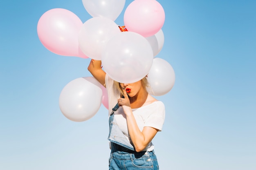
<path fill-rule="evenodd" d="M 173 88 L 175 83 L 175 73 L 171 64 L 162 58 L 154 58 L 152 67 L 148 72 L 148 82 L 151 95 L 165 95 Z"/>

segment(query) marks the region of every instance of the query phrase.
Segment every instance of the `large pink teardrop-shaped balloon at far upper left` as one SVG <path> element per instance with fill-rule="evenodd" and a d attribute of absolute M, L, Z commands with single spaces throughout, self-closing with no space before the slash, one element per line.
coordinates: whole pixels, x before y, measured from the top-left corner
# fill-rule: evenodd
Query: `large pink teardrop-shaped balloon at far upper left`
<path fill-rule="evenodd" d="M 39 19 L 37 33 L 41 43 L 58 55 L 88 58 L 78 44 L 78 33 L 83 22 L 67 9 L 46 11 Z"/>

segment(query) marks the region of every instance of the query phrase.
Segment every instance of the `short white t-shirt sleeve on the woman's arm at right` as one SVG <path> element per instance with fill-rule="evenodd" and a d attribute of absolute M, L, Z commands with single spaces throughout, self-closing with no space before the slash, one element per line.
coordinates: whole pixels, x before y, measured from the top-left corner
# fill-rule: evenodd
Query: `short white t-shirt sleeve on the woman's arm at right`
<path fill-rule="evenodd" d="M 158 131 L 162 131 L 164 119 L 164 103 L 157 101 L 150 107 L 150 114 L 148 115 L 148 118 L 145 120 L 144 126 L 149 126 L 158 129 Z"/>

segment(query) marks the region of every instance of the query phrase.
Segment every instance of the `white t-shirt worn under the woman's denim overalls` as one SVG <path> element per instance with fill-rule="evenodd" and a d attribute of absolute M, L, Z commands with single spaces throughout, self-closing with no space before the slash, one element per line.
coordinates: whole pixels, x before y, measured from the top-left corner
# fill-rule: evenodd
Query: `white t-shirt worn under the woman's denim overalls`
<path fill-rule="evenodd" d="M 108 112 L 110 115 L 112 108 L 117 104 L 117 99 L 120 98 L 120 92 L 118 89 L 113 88 L 114 80 L 111 79 L 108 75 L 106 75 L 105 82 L 108 91 Z M 132 113 L 135 117 L 139 130 L 142 131 L 145 126 L 149 126 L 162 131 L 165 118 L 165 107 L 163 102 L 156 101 L 140 108 L 134 108 L 132 109 Z M 119 128 L 130 141 L 130 143 L 132 143 L 128 134 L 126 115 L 124 114 L 123 108 L 120 107 L 117 111 L 115 111 L 114 116 Z M 153 149 L 154 145 L 152 142 L 150 142 L 145 148 L 147 151 L 152 151 Z"/>

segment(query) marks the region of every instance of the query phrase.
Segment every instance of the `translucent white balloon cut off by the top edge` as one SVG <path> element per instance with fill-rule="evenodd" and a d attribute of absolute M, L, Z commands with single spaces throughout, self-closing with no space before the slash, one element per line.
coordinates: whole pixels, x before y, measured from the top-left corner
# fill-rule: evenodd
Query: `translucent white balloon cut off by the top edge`
<path fill-rule="evenodd" d="M 85 10 L 92 17 L 106 17 L 113 21 L 124 9 L 125 0 L 82 0 Z"/>

